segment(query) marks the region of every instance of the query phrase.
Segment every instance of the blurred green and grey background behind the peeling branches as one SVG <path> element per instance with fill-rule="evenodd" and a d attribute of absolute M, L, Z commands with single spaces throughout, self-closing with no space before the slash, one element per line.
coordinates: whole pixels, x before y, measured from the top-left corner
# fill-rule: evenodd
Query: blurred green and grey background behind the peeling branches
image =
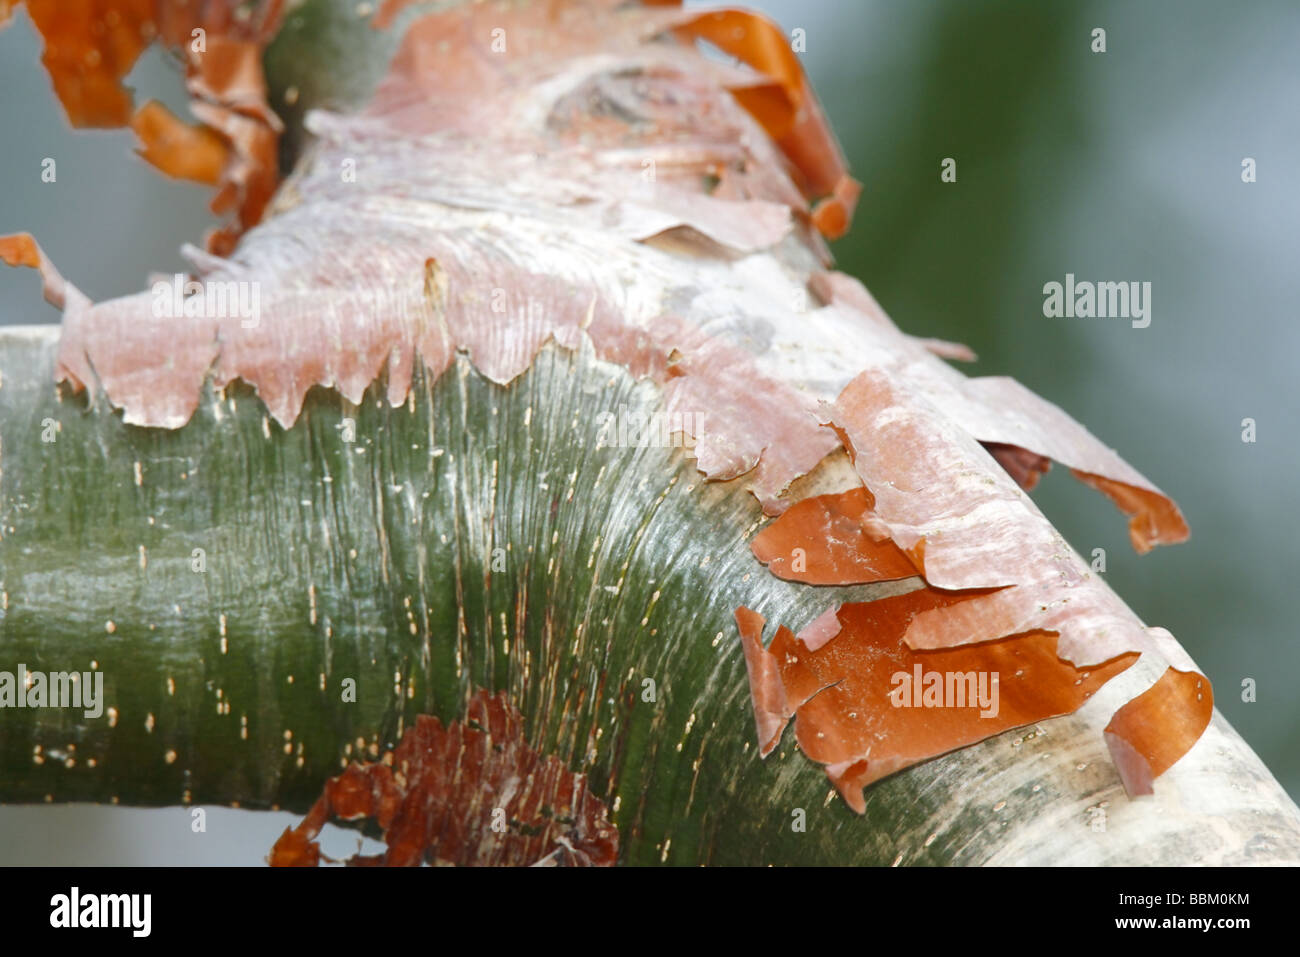
<path fill-rule="evenodd" d="M 905 330 L 966 342 L 980 356 L 970 374 L 1020 380 L 1179 502 L 1192 540 L 1139 558 L 1123 518 L 1067 472 L 1035 492 L 1076 550 L 1106 550 L 1110 584 L 1178 636 L 1300 798 L 1300 5 L 751 5 L 805 31 L 802 60 L 864 185 L 840 268 Z M 20 10 L 0 33 L 0 233 L 35 233 L 95 299 L 183 269 L 177 247 L 202 241 L 211 194 L 156 176 L 129 133 L 68 129 L 39 53 Z M 157 51 L 131 85 L 185 113 Z M 56 183 L 40 181 L 47 156 Z M 945 157 L 956 183 L 940 181 Z M 1245 157 L 1257 182 L 1242 181 Z M 1044 317 L 1043 285 L 1066 273 L 1150 282 L 1150 326 Z M 0 270 L 0 322 L 39 321 L 57 315 L 35 273 Z M 213 841 L 183 811 L 4 807 L 0 863 L 252 863 L 289 819 L 218 813 Z"/>

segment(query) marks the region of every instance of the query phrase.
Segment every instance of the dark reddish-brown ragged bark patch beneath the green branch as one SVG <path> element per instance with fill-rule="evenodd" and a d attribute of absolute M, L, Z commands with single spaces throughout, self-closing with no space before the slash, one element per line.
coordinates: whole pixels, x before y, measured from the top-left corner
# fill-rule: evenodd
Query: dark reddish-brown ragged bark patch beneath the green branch
<path fill-rule="evenodd" d="M 464 722 L 420 715 L 391 761 L 352 763 L 270 853 L 272 866 L 316 866 L 313 840 L 330 819 L 373 818 L 382 856 L 351 865 L 615 863 L 619 832 L 582 775 L 524 741 L 523 715 L 504 693 L 477 692 Z"/>

